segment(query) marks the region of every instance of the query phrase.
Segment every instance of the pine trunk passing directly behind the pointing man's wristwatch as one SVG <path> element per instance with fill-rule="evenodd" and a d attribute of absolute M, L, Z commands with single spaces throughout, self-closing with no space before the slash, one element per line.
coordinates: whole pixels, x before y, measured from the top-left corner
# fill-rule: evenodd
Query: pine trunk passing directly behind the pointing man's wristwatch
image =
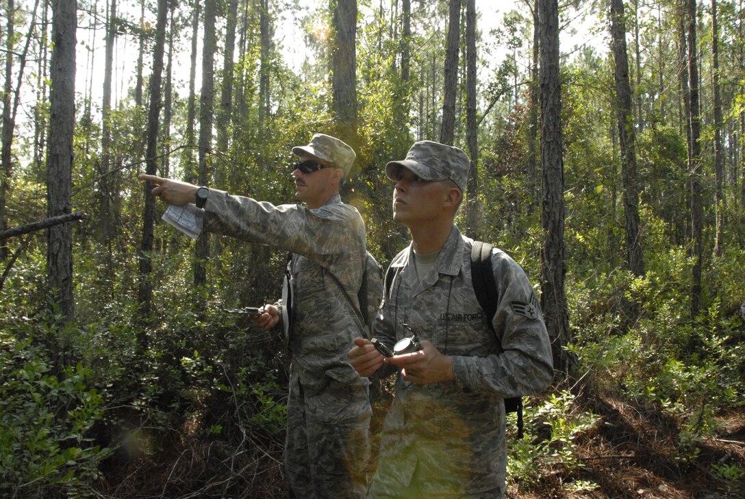
<path fill-rule="evenodd" d="M 206 186 L 209 183 L 208 157 L 212 153 L 212 117 L 215 101 L 215 36 L 214 2 L 208 1 L 204 7 L 204 43 L 202 47 L 202 90 L 199 109 L 199 171 L 198 183 Z M 209 236 L 203 232 L 195 245 L 196 261 L 194 262 L 194 286 L 205 286 L 207 283 L 206 261 L 209 255 Z"/>

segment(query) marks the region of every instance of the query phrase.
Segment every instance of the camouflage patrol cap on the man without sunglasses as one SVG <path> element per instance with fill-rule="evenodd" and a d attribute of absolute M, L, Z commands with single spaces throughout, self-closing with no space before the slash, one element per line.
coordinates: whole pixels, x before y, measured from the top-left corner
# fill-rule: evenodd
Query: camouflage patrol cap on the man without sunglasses
<path fill-rule="evenodd" d="M 402 166 L 425 181 L 444 181 L 449 178 L 455 182 L 460 192 L 465 192 L 471 161 L 462 149 L 422 140 L 414 142 L 406 153 L 405 160 L 390 161 L 385 166 L 385 175 L 395 181 L 394 175 Z"/>

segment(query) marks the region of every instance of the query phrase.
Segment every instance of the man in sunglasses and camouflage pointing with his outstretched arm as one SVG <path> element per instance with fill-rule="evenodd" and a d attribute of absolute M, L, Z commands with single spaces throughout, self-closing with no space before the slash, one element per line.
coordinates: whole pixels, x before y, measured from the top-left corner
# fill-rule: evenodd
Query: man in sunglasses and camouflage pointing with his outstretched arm
<path fill-rule="evenodd" d="M 300 160 L 292 172 L 296 198 L 306 206 L 274 206 L 209 189 L 197 225 L 291 252 L 292 310 L 282 310 L 279 301 L 257 319 L 269 329 L 292 317 L 285 445 L 290 496 L 361 498 L 370 457 L 370 382 L 352 368 L 347 352 L 360 335 L 352 307 L 359 307 L 365 227 L 355 207 L 339 196 L 355 152 L 323 134 L 293 152 Z M 169 204 L 187 204 L 197 196 L 197 186 L 188 183 L 140 178 L 156 183 L 153 194 Z"/>

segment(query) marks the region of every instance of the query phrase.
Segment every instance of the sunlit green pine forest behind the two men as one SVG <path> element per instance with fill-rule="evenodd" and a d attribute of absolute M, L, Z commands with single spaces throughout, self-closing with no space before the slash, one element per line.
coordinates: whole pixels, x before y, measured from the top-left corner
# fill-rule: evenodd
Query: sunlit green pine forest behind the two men
<path fill-rule="evenodd" d="M 745 381 L 742 0 L 311 4 L 0 1 L 0 492 L 282 497 L 288 359 L 227 310 L 275 300 L 285 255 L 191 242 L 136 175 L 291 202 L 317 131 L 357 151 L 343 198 L 386 264 L 384 164 L 472 158 L 458 225 L 524 266 L 554 339 L 513 493 L 626 493 L 575 473 L 607 401 L 675 421 L 673 475 L 737 491 L 741 453 L 701 456 Z"/>

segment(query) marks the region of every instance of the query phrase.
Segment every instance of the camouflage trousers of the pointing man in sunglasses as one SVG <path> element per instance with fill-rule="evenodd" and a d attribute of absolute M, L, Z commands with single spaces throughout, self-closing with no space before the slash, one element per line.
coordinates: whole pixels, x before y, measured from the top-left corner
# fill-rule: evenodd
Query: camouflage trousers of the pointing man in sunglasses
<path fill-rule="evenodd" d="M 370 461 L 368 389 L 327 380 L 323 388 L 310 389 L 291 373 L 285 441 L 289 495 L 361 499 Z"/>

